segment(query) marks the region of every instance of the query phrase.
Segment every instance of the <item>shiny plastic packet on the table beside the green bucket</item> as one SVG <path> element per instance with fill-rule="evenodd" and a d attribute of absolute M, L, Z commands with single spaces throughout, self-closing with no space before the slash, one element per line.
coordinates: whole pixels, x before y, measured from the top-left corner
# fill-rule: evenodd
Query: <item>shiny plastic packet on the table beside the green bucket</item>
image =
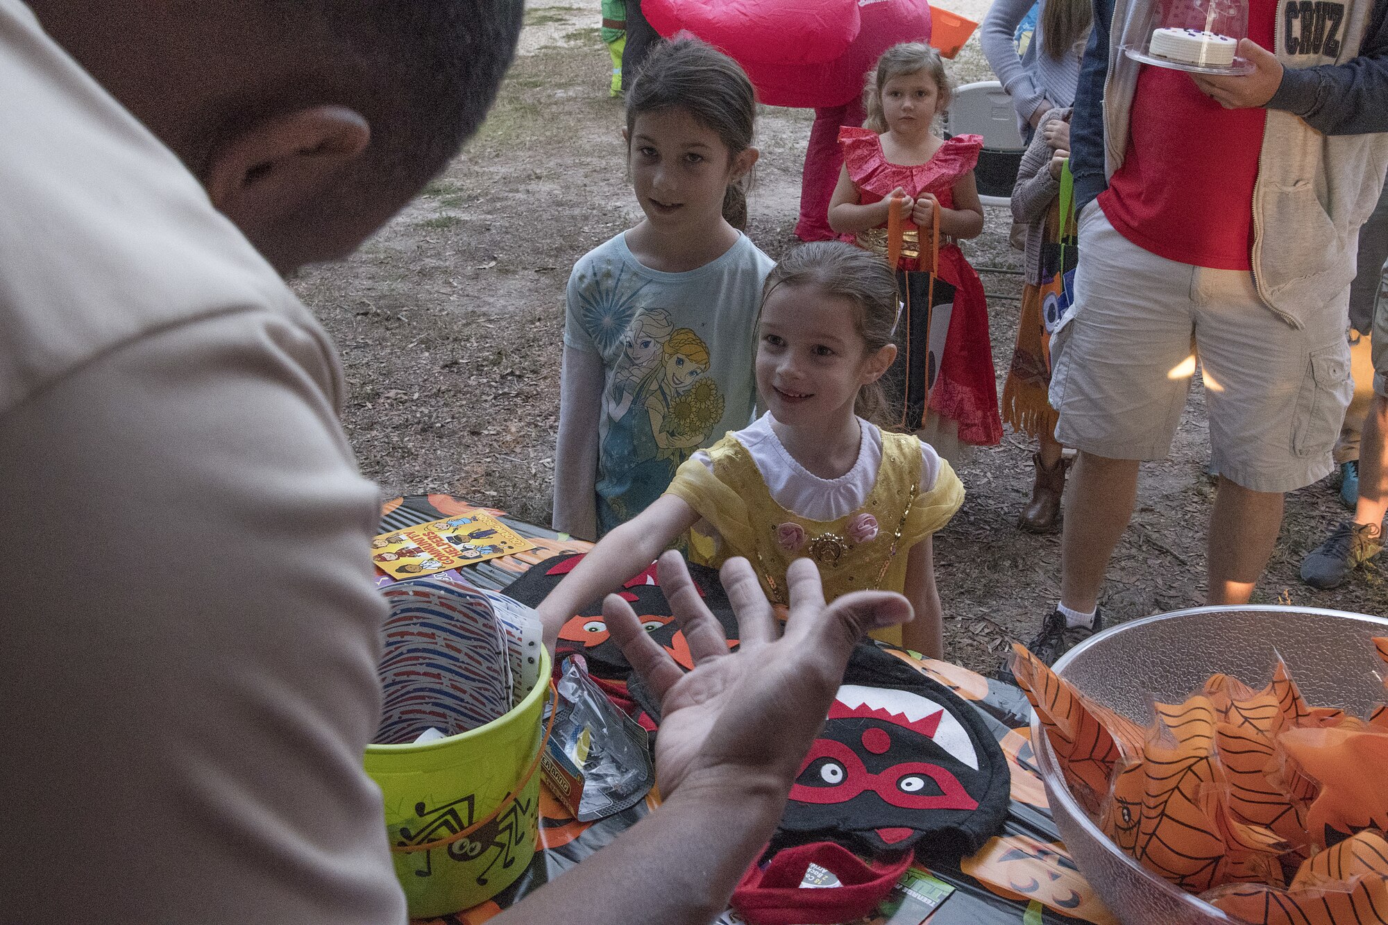
<path fill-rule="evenodd" d="M 645 729 L 612 706 L 582 656 L 565 658 L 544 781 L 579 822 L 636 806 L 655 783 Z"/>

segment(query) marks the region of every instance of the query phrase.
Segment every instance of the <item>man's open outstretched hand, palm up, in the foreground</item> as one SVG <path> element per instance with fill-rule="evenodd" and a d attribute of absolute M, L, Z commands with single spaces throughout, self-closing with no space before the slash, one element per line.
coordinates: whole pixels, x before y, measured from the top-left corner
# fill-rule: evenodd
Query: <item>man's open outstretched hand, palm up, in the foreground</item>
<path fill-rule="evenodd" d="M 616 594 L 604 601 L 602 615 L 661 701 L 655 776 L 666 797 L 704 786 L 769 788 L 784 796 L 829 714 L 854 646 L 869 629 L 912 618 L 906 599 L 890 592 L 855 592 L 826 606 L 819 571 L 801 558 L 786 574 L 790 619 L 777 638 L 752 567 L 733 558 L 722 579 L 741 644 L 730 653 L 683 557 L 665 553 L 658 574 L 694 671 L 684 674 Z"/>

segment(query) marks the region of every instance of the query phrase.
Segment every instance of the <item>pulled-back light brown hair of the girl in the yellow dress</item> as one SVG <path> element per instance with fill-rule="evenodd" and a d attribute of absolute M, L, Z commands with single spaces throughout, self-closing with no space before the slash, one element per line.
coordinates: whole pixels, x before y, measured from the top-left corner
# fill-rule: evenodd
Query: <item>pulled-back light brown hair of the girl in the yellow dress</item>
<path fill-rule="evenodd" d="M 863 356 L 869 357 L 892 343 L 897 328 L 897 274 L 887 261 L 870 251 L 840 240 L 818 240 L 795 247 L 772 267 L 762 286 L 762 304 L 776 286 L 815 286 L 826 296 L 845 299 L 858 307 L 854 331 L 863 339 Z M 854 412 L 881 424 L 887 410 L 887 396 L 881 382 L 869 382 L 858 390 Z"/>

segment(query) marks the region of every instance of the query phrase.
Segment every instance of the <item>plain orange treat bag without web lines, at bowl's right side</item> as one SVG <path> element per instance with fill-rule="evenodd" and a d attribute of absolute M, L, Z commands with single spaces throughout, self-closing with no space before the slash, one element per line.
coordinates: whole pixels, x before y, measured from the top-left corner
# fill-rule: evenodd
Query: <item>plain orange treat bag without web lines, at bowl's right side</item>
<path fill-rule="evenodd" d="M 1388 733 L 1355 729 L 1289 729 L 1280 743 L 1288 760 L 1320 785 L 1306 814 L 1312 842 L 1324 846 L 1364 828 L 1388 829 Z"/>

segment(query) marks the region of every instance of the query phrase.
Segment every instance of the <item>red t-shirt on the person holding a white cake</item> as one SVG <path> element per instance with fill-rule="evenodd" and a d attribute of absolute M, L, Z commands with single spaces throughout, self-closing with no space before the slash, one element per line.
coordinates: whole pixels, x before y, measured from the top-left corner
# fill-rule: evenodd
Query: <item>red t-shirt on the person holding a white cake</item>
<path fill-rule="evenodd" d="M 1273 47 L 1276 0 L 1249 0 L 1248 38 Z M 1122 51 L 1119 51 L 1122 54 Z M 1123 165 L 1099 193 L 1113 228 L 1183 264 L 1251 269 L 1262 108 L 1226 110 L 1190 74 L 1142 65 Z"/>

